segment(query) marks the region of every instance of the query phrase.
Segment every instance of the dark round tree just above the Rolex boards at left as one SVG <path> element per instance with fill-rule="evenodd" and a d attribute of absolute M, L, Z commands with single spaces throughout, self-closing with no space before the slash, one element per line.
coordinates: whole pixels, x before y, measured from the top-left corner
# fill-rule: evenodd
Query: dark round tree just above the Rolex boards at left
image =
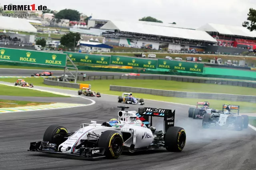
<path fill-rule="evenodd" d="M 76 39 L 75 39 L 76 37 Z M 60 43 L 61 45 L 64 45 L 65 47 L 74 48 L 74 42 L 75 42 L 75 46 L 77 44 L 77 42 L 81 39 L 81 35 L 78 32 L 69 32 L 68 34 L 62 36 L 60 38 Z"/>

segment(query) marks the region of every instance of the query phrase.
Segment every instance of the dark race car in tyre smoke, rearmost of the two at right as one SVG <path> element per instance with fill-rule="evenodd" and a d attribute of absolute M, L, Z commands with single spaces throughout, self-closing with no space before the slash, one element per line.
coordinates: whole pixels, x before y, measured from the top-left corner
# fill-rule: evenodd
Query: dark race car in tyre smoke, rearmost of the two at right
<path fill-rule="evenodd" d="M 203 106 L 203 107 L 198 107 Z M 193 119 L 203 119 L 205 113 L 219 113 L 217 109 L 209 108 L 210 103 L 208 101 L 205 102 L 197 102 L 196 108 L 190 107 L 188 109 L 188 117 L 192 117 Z"/>

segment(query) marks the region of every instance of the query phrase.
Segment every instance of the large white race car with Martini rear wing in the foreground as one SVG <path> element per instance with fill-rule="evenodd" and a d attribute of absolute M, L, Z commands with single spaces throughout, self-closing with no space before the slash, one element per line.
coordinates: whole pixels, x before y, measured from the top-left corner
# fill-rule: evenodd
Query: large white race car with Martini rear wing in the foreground
<path fill-rule="evenodd" d="M 184 128 L 174 127 L 175 110 L 119 106 L 118 119 L 97 124 L 83 123 L 75 132 L 60 125 L 51 125 L 44 132 L 43 140 L 31 142 L 29 151 L 66 154 L 86 158 L 118 158 L 122 152 L 136 152 L 166 148 L 181 152 L 186 143 Z M 149 121 L 150 117 L 150 123 Z M 152 127 L 152 117 L 164 119 L 164 130 Z M 113 123 L 116 121 L 116 123 Z"/>

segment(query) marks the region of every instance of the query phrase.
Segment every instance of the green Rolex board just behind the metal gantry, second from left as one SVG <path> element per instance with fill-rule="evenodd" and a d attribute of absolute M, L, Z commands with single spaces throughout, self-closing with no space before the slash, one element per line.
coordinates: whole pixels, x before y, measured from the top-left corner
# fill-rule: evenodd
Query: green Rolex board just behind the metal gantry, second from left
<path fill-rule="evenodd" d="M 109 65 L 110 63 L 110 56 L 92 55 L 92 54 L 86 54 L 86 53 L 71 53 L 66 51 L 64 53 L 68 54 L 68 56 L 73 62 L 100 64 L 100 65 Z"/>

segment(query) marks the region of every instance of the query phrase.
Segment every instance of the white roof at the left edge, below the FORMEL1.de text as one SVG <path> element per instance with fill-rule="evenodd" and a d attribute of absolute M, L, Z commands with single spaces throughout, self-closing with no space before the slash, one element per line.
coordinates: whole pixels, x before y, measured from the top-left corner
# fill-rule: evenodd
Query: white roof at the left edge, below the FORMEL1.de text
<path fill-rule="evenodd" d="M 28 20 L 22 18 L 12 18 L 0 16 L 0 30 L 11 30 L 20 32 L 34 32 L 37 30 L 32 26 Z"/>

